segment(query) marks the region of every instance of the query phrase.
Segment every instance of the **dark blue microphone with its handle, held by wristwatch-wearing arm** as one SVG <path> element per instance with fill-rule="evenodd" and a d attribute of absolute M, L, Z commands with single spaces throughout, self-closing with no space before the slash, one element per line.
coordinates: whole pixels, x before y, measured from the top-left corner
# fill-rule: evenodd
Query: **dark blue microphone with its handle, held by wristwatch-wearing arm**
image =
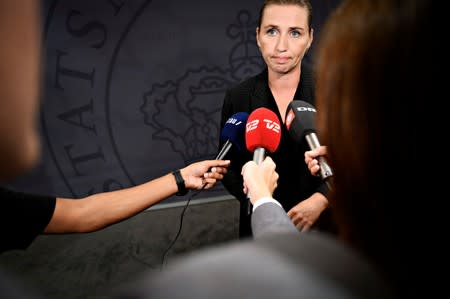
<path fill-rule="evenodd" d="M 239 151 L 243 149 L 244 129 L 247 119 L 248 113 L 237 112 L 226 121 L 222 132 L 220 133 L 220 141 L 225 141 L 225 143 L 217 154 L 216 160 L 222 160 L 233 145 Z"/>

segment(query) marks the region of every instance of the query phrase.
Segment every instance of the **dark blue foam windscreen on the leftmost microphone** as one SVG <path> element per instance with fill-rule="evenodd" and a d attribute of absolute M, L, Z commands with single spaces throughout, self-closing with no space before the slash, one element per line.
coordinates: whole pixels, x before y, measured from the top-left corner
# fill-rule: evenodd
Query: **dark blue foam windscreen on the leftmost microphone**
<path fill-rule="evenodd" d="M 244 149 L 244 131 L 247 119 L 248 113 L 246 112 L 233 114 L 223 126 L 220 133 L 221 141 L 226 142 L 229 140 L 237 150 L 242 151 Z"/>

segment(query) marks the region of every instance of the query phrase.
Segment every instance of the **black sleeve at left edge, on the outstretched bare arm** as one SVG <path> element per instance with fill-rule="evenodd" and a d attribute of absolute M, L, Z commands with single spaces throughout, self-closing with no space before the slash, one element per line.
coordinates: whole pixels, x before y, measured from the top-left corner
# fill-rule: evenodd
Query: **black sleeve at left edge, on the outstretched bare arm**
<path fill-rule="evenodd" d="M 0 188 L 0 253 L 26 249 L 42 233 L 55 211 L 56 198 Z"/>

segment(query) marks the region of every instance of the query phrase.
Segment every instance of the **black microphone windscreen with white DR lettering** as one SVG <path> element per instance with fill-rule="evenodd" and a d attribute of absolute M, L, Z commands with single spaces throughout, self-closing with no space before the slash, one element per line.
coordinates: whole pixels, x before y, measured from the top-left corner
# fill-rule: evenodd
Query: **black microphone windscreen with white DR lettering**
<path fill-rule="evenodd" d="M 294 100 L 286 109 L 286 128 L 296 142 L 301 142 L 306 134 L 316 132 L 316 108 L 305 101 Z"/>

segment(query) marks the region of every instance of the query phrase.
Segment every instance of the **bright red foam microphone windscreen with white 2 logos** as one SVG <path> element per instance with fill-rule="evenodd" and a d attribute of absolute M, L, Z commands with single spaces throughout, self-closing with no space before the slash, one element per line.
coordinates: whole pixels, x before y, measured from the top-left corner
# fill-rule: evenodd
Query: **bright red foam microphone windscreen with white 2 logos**
<path fill-rule="evenodd" d="M 280 121 L 273 111 L 262 107 L 250 113 L 245 129 L 245 144 L 249 151 L 262 147 L 272 153 L 277 150 L 280 139 Z"/>

